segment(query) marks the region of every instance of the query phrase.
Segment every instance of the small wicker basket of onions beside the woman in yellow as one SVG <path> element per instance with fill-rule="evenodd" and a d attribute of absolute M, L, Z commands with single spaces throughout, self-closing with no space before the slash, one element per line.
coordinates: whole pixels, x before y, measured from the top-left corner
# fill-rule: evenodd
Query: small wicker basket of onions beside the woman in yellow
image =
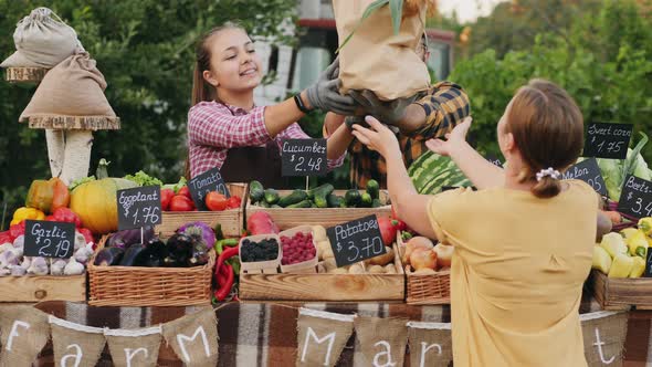
<path fill-rule="evenodd" d="M 406 252 L 406 243 L 397 233 L 399 254 Z M 409 305 L 438 305 L 451 303 L 451 271 L 434 274 L 414 274 L 410 265 L 406 266 L 407 291 L 406 302 Z"/>

